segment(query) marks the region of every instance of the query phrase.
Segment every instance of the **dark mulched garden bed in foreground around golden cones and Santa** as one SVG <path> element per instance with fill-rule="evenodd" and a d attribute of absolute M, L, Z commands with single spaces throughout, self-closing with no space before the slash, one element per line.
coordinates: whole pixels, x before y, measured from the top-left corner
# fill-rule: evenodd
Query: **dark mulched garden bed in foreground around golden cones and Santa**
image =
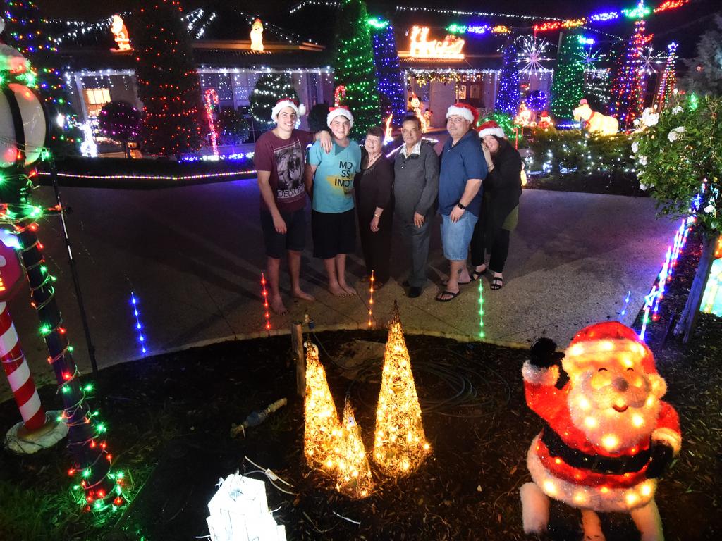
<path fill-rule="evenodd" d="M 690 237 L 661 304 L 661 319 L 648 330 L 684 439 L 657 493 L 671 541 L 722 536 L 722 320 L 701 317 L 689 346 L 674 338 L 664 342 L 669 318 L 682 308 L 692 283 L 699 251 L 699 240 Z M 334 363 L 353 340 L 383 343 L 386 333 L 316 337 L 336 407 L 340 413 L 349 392 L 370 449 L 380 359 L 349 379 Z M 0 539 L 175 541 L 207 535 L 206 503 L 214 484 L 235 470 L 255 469 L 244 456 L 276 472 L 297 493 L 266 484 L 269 506 L 278 509 L 275 517 L 289 540 L 536 539 L 523 535 L 518 496 L 529 480 L 526 451 L 541 428 L 523 395 L 526 350 L 422 335 L 407 335 L 406 342 L 433 453 L 409 478 L 392 480 L 374 471 L 370 498 L 339 495 L 333 478 L 305 465 L 303 403 L 294 397 L 290 339 L 249 340 L 101 371 L 94 403 L 108 421 L 115 463 L 135 485 L 134 501 L 99 527 L 68 503 L 69 459 L 62 447 L 23 458 L 2 452 Z M 57 403 L 53 388 L 41 395 L 45 404 Z M 245 439 L 230 438 L 232 423 L 280 397 L 289 398 L 287 407 L 249 428 Z M 3 427 L 17 421 L 14 403 L 0 405 L 0 421 Z M 602 521 L 609 540 L 639 539 L 629 516 L 610 514 Z M 549 539 L 580 538 L 578 512 L 553 503 Z"/>

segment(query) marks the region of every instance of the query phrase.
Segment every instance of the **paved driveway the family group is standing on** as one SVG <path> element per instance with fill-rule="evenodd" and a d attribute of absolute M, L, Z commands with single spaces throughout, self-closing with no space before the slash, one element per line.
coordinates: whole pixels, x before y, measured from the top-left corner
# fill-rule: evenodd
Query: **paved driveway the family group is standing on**
<path fill-rule="evenodd" d="M 38 201 L 51 204 L 48 188 Z M 142 356 L 130 305 L 139 299 L 147 355 L 218 340 L 267 335 L 260 301 L 265 256 L 258 225 L 255 180 L 169 190 L 130 191 L 64 188 L 69 233 L 99 366 Z M 621 319 L 631 322 L 658 273 L 676 224 L 656 219 L 647 198 L 525 190 L 519 226 L 511 240 L 505 286 L 490 291 L 483 282 L 487 340 L 529 345 L 546 334 L 566 346 L 590 322 L 617 319 L 627 291 L 631 300 Z M 40 221 L 40 239 L 54 268 L 58 304 L 82 371 L 90 361 L 57 218 Z M 317 300 L 288 302 L 290 315 L 271 318 L 271 333 L 287 333 L 305 310 L 318 330 L 365 328 L 367 289 L 336 299 L 323 289 L 323 265 L 308 246 L 303 286 Z M 399 301 L 409 333 L 435 333 L 474 340 L 479 336 L 477 285 L 448 303 L 435 302 L 448 265 L 433 229 L 429 286 L 407 299 L 399 285 L 409 257 L 394 245 L 396 281 L 375 294 L 374 315 L 383 322 Z M 349 260 L 352 283 L 364 274 L 361 258 Z M 282 288 L 288 291 L 284 276 Z M 285 297 L 287 299 L 287 296 Z M 38 320 L 21 289 L 10 308 L 36 382 L 52 382 L 38 333 Z M 10 396 L 0 383 L 0 400 Z"/>

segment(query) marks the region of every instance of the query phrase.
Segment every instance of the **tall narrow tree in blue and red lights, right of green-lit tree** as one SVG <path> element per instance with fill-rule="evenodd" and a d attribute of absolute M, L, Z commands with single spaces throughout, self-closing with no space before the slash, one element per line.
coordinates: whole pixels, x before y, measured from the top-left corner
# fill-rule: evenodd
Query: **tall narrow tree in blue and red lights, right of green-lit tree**
<path fill-rule="evenodd" d="M 642 114 L 643 80 L 642 49 L 645 44 L 645 23 L 635 22 L 635 30 L 627 45 L 627 53 L 620 58 L 617 76 L 612 85 L 609 114 L 617 117 L 619 128 L 628 129 L 635 118 Z"/>

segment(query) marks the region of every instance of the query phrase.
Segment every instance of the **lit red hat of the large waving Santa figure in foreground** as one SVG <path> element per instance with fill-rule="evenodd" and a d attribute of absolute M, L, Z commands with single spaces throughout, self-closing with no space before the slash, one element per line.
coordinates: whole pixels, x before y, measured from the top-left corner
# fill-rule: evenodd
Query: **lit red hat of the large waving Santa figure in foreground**
<path fill-rule="evenodd" d="M 617 321 L 605 321 L 584 327 L 574 336 L 562 361 L 565 371 L 584 371 L 601 358 L 618 357 L 632 366 L 640 366 L 645 374 L 659 377 L 650 348 L 637 333 Z M 661 379 L 661 377 L 659 377 Z"/>

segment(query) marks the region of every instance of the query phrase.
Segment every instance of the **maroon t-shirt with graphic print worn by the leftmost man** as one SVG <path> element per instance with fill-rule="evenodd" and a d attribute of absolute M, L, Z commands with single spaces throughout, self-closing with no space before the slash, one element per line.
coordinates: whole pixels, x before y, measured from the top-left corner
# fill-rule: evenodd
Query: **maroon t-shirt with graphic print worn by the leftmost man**
<path fill-rule="evenodd" d="M 267 131 L 256 141 L 253 163 L 258 171 L 269 171 L 269 185 L 274 194 L 276 206 L 281 212 L 293 212 L 306 205 L 303 186 L 306 147 L 316 136 L 303 130 L 294 130 L 290 138 L 277 137 Z M 266 203 L 261 197 L 261 208 Z"/>

